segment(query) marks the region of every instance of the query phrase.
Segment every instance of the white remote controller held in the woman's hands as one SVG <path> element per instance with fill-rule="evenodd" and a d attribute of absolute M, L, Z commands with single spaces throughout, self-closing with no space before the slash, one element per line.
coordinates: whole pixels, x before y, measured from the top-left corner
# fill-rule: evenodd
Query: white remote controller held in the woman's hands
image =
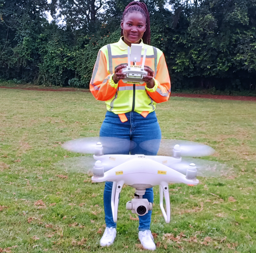
<path fill-rule="evenodd" d="M 144 49 L 142 65 L 137 65 L 140 62 L 142 53 L 142 45 L 132 44 L 131 47 L 128 46 L 128 65 L 126 68 L 122 69 L 122 72 L 126 74 L 126 78 L 123 79 L 124 83 L 131 84 L 143 84 L 143 75 L 148 75 L 148 72 L 144 70 L 145 58 L 147 54 L 147 48 Z M 133 62 L 134 65 L 130 65 Z"/>

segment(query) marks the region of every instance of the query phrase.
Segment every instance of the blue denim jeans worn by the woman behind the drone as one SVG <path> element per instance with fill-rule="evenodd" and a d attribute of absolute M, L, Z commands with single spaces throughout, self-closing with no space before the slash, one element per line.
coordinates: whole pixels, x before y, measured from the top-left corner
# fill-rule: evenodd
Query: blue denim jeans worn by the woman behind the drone
<path fill-rule="evenodd" d="M 99 136 L 128 139 L 137 144 L 134 149 L 123 152 L 122 154 L 156 155 L 160 145 L 161 130 L 155 112 L 149 113 L 146 118 L 136 112 L 129 112 L 126 113 L 126 117 L 128 121 L 122 123 L 117 114 L 107 112 Z M 155 149 L 153 149 L 155 150 L 154 152 L 140 148 L 140 143 L 152 139 L 159 139 L 159 142 L 154 141 L 153 143 L 153 145 L 155 145 Z M 150 150 L 152 150 L 152 148 L 150 148 Z M 112 150 L 112 154 L 117 153 L 118 150 Z M 104 189 L 104 211 L 107 227 L 117 226 L 113 221 L 111 209 L 112 185 L 113 182 L 106 182 Z M 143 198 L 153 203 L 153 189 L 146 189 Z M 152 211 L 148 211 L 144 216 L 139 216 L 139 231 L 150 230 L 151 215 Z"/>

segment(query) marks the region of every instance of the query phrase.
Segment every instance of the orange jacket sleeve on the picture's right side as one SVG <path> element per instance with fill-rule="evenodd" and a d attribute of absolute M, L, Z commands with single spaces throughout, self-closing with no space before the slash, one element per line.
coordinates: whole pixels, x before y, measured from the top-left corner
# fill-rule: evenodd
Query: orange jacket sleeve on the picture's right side
<path fill-rule="evenodd" d="M 155 85 L 152 89 L 145 86 L 149 97 L 157 103 L 166 102 L 170 97 L 170 77 L 163 53 L 157 64 L 157 74 L 155 75 L 154 83 Z"/>

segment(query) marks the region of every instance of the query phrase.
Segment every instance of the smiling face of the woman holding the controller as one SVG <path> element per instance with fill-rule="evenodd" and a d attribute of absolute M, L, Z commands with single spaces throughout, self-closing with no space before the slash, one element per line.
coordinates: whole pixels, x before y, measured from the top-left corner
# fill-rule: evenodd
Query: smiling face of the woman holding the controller
<path fill-rule="evenodd" d="M 130 12 L 122 20 L 121 28 L 123 29 L 124 42 L 127 45 L 138 44 L 146 31 L 145 17 L 140 12 Z"/>

